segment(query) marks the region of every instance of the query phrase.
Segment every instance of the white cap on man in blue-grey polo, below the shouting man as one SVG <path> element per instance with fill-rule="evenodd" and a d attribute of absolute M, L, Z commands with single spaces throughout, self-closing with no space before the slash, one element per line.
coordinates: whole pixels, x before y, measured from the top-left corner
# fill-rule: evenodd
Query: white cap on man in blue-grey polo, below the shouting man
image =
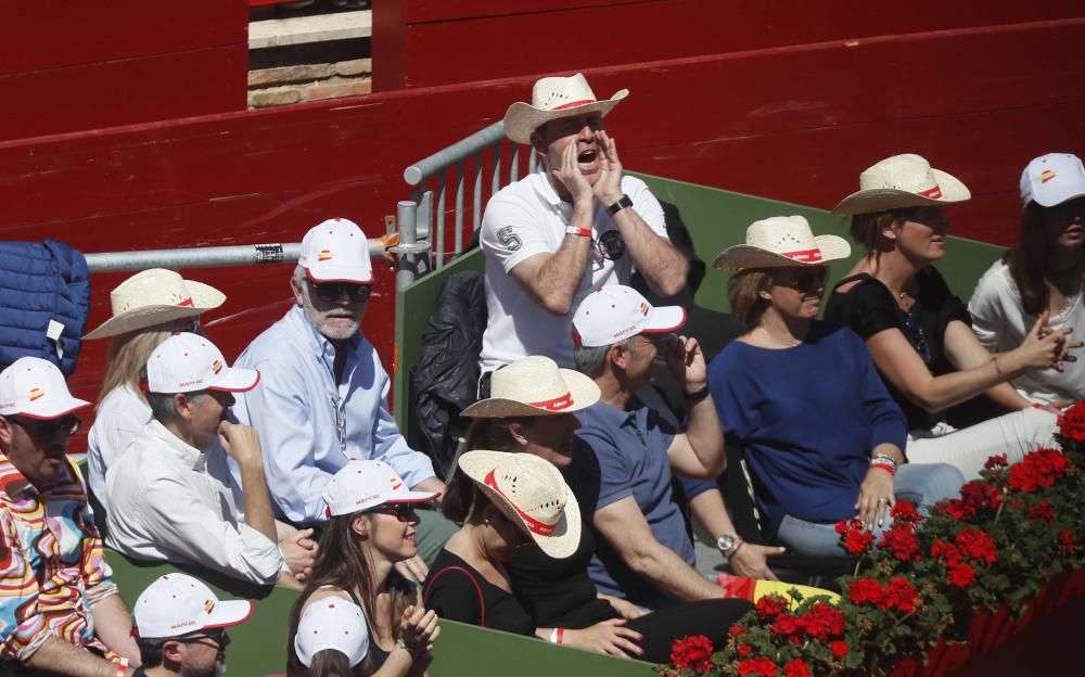
<path fill-rule="evenodd" d="M 648 303 L 623 284 L 601 286 L 580 302 L 573 315 L 573 343 L 585 348 L 609 346 L 642 333 L 673 332 L 686 323 L 681 306 Z"/>

